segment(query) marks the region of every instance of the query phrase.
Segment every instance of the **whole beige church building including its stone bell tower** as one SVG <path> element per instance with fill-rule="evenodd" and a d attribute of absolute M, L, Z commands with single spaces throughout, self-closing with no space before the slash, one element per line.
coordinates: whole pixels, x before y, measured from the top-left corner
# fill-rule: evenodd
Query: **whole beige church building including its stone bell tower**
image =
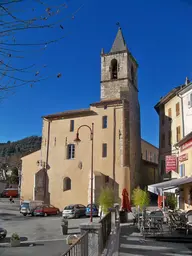
<path fill-rule="evenodd" d="M 89 108 L 43 117 L 41 150 L 22 158 L 21 197 L 62 209 L 90 203 L 93 136 L 93 200 L 112 186 L 116 200 L 142 182 L 138 64 L 121 29 L 109 53 L 101 52 L 101 99 Z M 80 143 L 75 143 L 79 131 Z"/>

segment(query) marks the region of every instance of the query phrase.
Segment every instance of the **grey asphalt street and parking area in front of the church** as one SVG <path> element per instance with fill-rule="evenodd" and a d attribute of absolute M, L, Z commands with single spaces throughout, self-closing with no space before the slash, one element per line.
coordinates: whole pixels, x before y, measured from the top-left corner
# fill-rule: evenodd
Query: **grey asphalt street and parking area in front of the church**
<path fill-rule="evenodd" d="M 70 219 L 69 234 L 79 234 L 80 223 L 88 218 Z M 95 219 L 94 221 L 98 221 Z M 7 230 L 7 237 L 0 241 L 0 256 L 47 255 L 60 256 L 69 246 L 61 232 L 61 216 L 24 217 L 19 213 L 19 202 L 10 204 L 0 199 L 0 227 Z M 21 247 L 11 248 L 10 237 L 13 233 L 21 237 Z"/>

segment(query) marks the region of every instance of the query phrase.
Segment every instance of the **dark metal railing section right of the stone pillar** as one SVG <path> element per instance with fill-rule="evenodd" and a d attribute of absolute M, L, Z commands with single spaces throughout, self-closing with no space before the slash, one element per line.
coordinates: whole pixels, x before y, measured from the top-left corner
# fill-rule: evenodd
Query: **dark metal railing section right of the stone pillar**
<path fill-rule="evenodd" d="M 102 249 L 105 248 L 109 235 L 111 233 L 111 212 L 106 214 L 101 220 L 102 225 Z"/>

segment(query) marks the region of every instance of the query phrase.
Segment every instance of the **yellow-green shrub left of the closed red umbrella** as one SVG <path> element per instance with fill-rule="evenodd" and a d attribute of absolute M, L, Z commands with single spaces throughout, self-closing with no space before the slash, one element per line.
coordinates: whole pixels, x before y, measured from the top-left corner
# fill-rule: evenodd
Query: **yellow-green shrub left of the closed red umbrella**
<path fill-rule="evenodd" d="M 109 208 L 113 207 L 115 203 L 114 191 L 107 187 L 100 192 L 98 204 L 101 206 L 104 214 L 109 212 Z"/>

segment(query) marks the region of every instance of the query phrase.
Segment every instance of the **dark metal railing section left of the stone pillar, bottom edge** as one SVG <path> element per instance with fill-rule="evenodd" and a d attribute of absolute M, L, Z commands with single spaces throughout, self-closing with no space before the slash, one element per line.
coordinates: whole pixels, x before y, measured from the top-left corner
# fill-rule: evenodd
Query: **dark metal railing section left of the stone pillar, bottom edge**
<path fill-rule="evenodd" d="M 88 256 L 88 234 L 83 234 L 62 256 Z"/>

